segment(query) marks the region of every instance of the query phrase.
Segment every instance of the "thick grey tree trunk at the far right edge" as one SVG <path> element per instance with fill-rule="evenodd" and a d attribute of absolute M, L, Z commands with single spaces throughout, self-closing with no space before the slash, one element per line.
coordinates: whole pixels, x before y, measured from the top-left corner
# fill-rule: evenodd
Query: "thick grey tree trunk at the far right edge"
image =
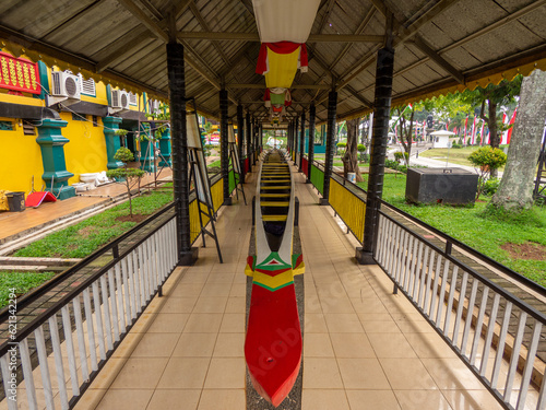
<path fill-rule="evenodd" d="M 508 162 L 492 206 L 506 210 L 533 206 L 533 180 L 546 118 L 545 93 L 546 72 L 537 69 L 523 79 Z"/>

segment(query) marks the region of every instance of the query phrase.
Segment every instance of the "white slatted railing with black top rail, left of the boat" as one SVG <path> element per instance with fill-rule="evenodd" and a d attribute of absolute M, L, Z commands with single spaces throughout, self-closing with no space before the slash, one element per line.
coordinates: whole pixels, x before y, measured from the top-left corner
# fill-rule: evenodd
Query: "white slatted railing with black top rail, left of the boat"
<path fill-rule="evenodd" d="M 9 410 L 75 405 L 173 272 L 177 263 L 174 216 L 149 230 L 121 255 L 117 246 L 112 250 L 109 263 L 19 333 L 14 331 L 14 340 L 1 347 L 2 401 Z M 17 386 L 26 394 L 17 395 Z"/>

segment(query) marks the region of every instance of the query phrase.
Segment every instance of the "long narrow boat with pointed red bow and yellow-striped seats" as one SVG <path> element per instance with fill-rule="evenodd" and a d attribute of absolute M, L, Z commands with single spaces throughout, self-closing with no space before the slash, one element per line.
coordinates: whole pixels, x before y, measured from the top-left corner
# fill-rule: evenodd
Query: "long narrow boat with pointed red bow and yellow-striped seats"
<path fill-rule="evenodd" d="M 254 204 L 256 255 L 246 273 L 252 293 L 245 356 L 256 390 L 274 407 L 290 393 L 301 365 L 301 328 L 294 276 L 305 270 L 294 255 L 294 177 L 284 153 L 263 155 Z"/>

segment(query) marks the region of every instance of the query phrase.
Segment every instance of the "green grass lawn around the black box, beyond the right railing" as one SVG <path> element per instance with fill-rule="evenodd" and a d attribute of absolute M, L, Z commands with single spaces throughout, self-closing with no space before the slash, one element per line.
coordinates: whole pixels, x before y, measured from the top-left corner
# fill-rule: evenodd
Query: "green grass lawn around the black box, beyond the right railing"
<path fill-rule="evenodd" d="M 405 202 L 405 175 L 385 175 L 383 199 L 429 225 L 453 236 L 510 269 L 546 286 L 546 260 L 512 258 L 500 246 L 533 242 L 546 246 L 546 207 L 535 206 L 517 220 L 485 212 L 490 197 L 474 207 L 413 206 Z M 366 189 L 367 181 L 359 183 Z"/>

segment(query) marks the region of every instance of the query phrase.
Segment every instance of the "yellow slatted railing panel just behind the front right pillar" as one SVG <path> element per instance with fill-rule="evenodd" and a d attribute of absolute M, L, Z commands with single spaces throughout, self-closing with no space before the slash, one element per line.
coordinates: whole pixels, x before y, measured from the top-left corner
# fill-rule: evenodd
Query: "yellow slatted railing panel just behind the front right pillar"
<path fill-rule="evenodd" d="M 330 204 L 358 242 L 364 239 L 364 214 L 366 202 L 334 178 L 330 178 Z"/>

